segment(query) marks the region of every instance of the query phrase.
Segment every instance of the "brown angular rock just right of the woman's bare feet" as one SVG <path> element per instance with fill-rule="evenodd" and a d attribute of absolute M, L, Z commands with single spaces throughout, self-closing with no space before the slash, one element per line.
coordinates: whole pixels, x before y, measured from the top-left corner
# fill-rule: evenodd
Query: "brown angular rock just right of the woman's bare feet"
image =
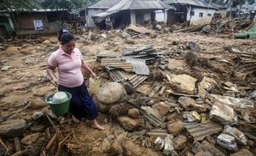
<path fill-rule="evenodd" d="M 139 127 L 139 123 L 130 117 L 119 117 L 118 122 L 126 131 L 135 131 Z"/>

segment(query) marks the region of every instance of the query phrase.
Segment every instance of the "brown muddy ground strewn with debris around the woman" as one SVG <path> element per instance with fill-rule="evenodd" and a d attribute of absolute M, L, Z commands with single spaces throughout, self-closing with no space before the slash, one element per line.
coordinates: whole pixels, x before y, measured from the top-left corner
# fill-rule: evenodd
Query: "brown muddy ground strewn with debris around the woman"
<path fill-rule="evenodd" d="M 100 33 L 98 34 L 100 35 Z M 79 39 L 80 35 L 77 34 L 76 37 Z M 50 42 L 44 42 L 45 39 Z M 135 44 L 127 44 L 118 32 L 107 34 L 106 39 L 103 37 L 101 39 L 100 41 L 92 41 L 90 44 L 77 42 L 76 47 L 84 54 L 83 58 L 85 62 L 88 62 L 93 70 L 101 77 L 102 84 L 111 82 L 112 80 L 107 76 L 106 71 L 98 67 L 98 63 L 96 63 L 97 53 L 121 53 L 122 48 L 152 44 L 157 52 L 164 53 L 164 56 L 166 56 L 165 60 L 168 61 L 168 69 L 163 71 L 164 74 L 188 74 L 196 77 L 198 80 L 201 80 L 203 76 L 211 76 L 211 78 L 214 78 L 220 84 L 221 82 L 231 81 L 237 85 L 241 97 L 248 96 L 256 88 L 255 72 L 239 69 L 243 73 L 248 73 L 248 75 L 244 80 L 236 77 L 234 75 L 235 55 L 223 49 L 225 44 L 229 44 L 232 48 L 239 49 L 241 52 L 255 53 L 255 40 L 220 38 L 215 35 L 200 33 L 167 33 L 159 34 L 155 39 L 151 39 L 147 35 L 142 35 L 139 38 L 132 39 Z M 199 44 L 201 47 L 201 52 L 198 53 L 199 57 L 210 59 L 214 67 L 189 66 L 184 60 L 184 55 L 190 52 L 190 50 L 184 48 L 188 41 Z M 57 38 L 55 36 L 43 36 L 36 41 L 31 39 L 25 42 L 7 42 L 4 45 L 7 45 L 7 49 L 0 52 L 0 66 L 10 66 L 10 68 L 6 71 L 0 71 L 0 122 L 11 119 L 25 119 L 27 124 L 26 131 L 23 131 L 19 136 L 20 140 L 24 136 L 40 133 L 40 136 L 36 137 L 36 140 L 33 140 L 31 143 L 27 145 L 21 143 L 21 149 L 32 149 L 29 152 L 35 155 L 55 155 L 56 153 L 59 155 L 164 155 L 162 151 L 154 147 L 156 137 L 144 135 L 136 140 L 131 140 L 128 132 L 124 131 L 116 119 L 110 117 L 108 112 L 100 112 L 98 117 L 98 121 L 105 126 L 106 131 L 94 130 L 88 123 L 74 123 L 70 115 L 59 117 L 58 119 L 51 117 L 59 132 L 57 140 L 55 140 L 53 145 L 50 145 L 49 149 L 46 149 L 46 145 L 48 145 L 50 139 L 55 135 L 56 130 L 50 124 L 47 117 L 43 117 L 40 121 L 35 121 L 33 120 L 33 114 L 35 112 L 49 110 L 43 99 L 46 95 L 55 92 L 54 85 L 46 78 L 45 62 L 50 56 L 50 53 L 59 47 Z M 150 65 L 150 72 L 154 74 L 156 71 L 161 71 L 157 67 L 157 63 Z M 86 72 L 84 72 L 84 75 L 88 78 Z M 139 86 L 136 93 L 140 91 L 149 94 L 152 89 L 150 85 L 153 84 L 153 81 L 152 79 L 145 80 Z M 165 78 L 164 81 L 166 81 Z M 220 90 L 217 90 L 216 94 L 221 94 L 218 91 Z M 168 99 L 175 99 L 172 95 L 164 94 L 164 96 Z M 155 99 L 159 100 L 159 97 Z M 168 112 L 169 115 L 172 113 Z M 251 114 L 252 117 L 255 117 L 255 115 Z M 182 116 L 180 115 L 180 117 Z M 244 125 L 244 130 L 248 128 L 248 131 L 251 134 L 253 132 L 255 135 L 255 122 Z M 143 130 L 143 128 L 140 130 Z M 65 138 L 65 136 L 68 137 Z M 1 144 L 0 153 L 2 154 L 0 155 L 12 155 L 16 153 L 13 139 L 1 138 L 3 145 L 6 145 L 7 149 Z M 59 144 L 62 140 L 62 144 Z M 149 148 L 145 146 L 145 140 L 151 143 Z M 191 140 L 189 141 L 192 142 Z M 245 146 L 240 149 L 249 149 L 249 151 L 256 154 L 255 140 L 253 140 L 253 143 L 252 146 Z M 192 153 L 189 145 L 187 143 L 187 149 L 178 154 L 187 155 L 188 153 Z M 234 153 L 226 149 L 221 149 L 220 146 L 218 148 L 225 155 Z M 26 152 L 28 153 L 27 155 L 30 155 L 28 151 Z"/>

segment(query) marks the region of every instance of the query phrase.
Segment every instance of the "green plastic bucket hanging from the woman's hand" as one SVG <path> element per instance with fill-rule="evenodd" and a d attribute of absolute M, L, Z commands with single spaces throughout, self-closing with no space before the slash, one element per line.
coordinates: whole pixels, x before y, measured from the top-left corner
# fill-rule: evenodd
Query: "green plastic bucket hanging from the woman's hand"
<path fill-rule="evenodd" d="M 45 102 L 49 104 L 51 112 L 53 112 L 55 115 L 59 116 L 59 115 L 64 115 L 65 113 L 69 112 L 69 103 L 70 103 L 70 99 L 72 98 L 72 95 L 69 94 L 68 92 L 65 92 L 65 94 L 67 94 L 68 96 L 68 100 L 65 101 L 64 103 L 53 103 L 52 99 L 54 94 L 50 94 L 49 96 L 47 96 L 45 98 Z"/>

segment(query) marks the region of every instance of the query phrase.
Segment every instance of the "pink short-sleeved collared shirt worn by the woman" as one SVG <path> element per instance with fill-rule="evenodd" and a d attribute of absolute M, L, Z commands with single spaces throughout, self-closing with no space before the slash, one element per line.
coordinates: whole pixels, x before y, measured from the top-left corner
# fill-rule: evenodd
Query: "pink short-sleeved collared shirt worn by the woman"
<path fill-rule="evenodd" d="M 69 55 L 60 47 L 52 53 L 48 59 L 48 64 L 52 67 L 57 67 L 59 70 L 58 82 L 59 85 L 64 85 L 69 88 L 77 87 L 83 84 L 82 54 L 78 48 L 74 48 Z"/>

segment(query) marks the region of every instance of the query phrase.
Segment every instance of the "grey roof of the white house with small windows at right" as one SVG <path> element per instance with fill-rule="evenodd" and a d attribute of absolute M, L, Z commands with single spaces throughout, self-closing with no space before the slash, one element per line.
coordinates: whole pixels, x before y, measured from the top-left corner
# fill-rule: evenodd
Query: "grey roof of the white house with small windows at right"
<path fill-rule="evenodd" d="M 213 9 L 218 9 L 209 3 L 203 2 L 201 0 L 166 0 L 164 1 L 166 4 L 187 4 L 187 5 L 192 5 L 192 6 L 197 6 L 197 7 L 206 7 L 206 8 L 213 8 Z"/>

